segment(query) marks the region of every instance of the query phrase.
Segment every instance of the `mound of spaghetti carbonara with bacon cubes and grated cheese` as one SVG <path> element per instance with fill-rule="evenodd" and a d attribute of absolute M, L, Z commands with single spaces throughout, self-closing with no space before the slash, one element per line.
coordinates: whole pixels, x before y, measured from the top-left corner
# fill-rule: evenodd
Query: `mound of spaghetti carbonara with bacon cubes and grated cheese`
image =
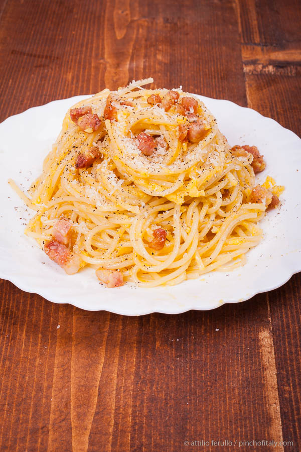
<path fill-rule="evenodd" d="M 74 105 L 29 196 L 26 229 L 68 274 L 91 266 L 107 287 L 174 285 L 233 269 L 261 239 L 281 187 L 231 148 L 197 96 L 144 89 L 149 78 Z"/>

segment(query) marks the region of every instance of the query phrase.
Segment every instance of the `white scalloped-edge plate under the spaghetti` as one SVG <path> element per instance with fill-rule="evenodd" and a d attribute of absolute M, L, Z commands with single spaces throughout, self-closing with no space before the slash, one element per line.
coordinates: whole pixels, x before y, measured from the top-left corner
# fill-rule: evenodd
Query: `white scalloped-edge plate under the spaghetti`
<path fill-rule="evenodd" d="M 230 145 L 255 145 L 264 154 L 267 169 L 260 173 L 259 181 L 271 175 L 276 183 L 285 185 L 282 206 L 269 212 L 261 222 L 264 239 L 248 253 L 247 264 L 233 272 L 213 272 L 175 287 L 153 289 L 132 285 L 107 289 L 88 268 L 76 275 L 66 275 L 34 240 L 24 235 L 24 223 L 33 212 L 26 210 L 7 180 L 13 178 L 23 189 L 30 186 L 60 132 L 65 112 L 85 97 L 30 108 L 0 124 L 0 277 L 56 303 L 140 315 L 213 309 L 223 303 L 247 300 L 256 293 L 281 286 L 292 274 L 301 271 L 301 140 L 250 108 L 200 96 L 216 116 Z"/>

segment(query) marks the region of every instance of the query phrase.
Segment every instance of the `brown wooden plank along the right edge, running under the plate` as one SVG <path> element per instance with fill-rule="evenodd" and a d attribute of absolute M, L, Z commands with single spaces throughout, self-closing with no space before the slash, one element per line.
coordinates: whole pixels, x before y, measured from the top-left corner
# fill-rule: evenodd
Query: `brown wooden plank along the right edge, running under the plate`
<path fill-rule="evenodd" d="M 297 4 L 260 2 L 253 9 L 258 29 L 252 45 L 242 35 L 242 59 L 246 74 L 248 106 L 269 116 L 284 127 L 301 134 L 300 105 L 300 19 Z M 301 170 L 292 168 L 292 171 Z M 293 450 L 301 448 L 301 391 L 297 383 L 301 374 L 300 359 L 300 298 L 301 277 L 294 276 L 287 284 L 268 294 L 274 354 L 277 371 L 278 402 L 271 405 L 281 414 L 282 438 L 293 442 Z M 265 360 L 263 360 L 264 363 Z M 269 369 L 269 366 L 265 366 Z M 269 369 L 270 388 L 275 387 L 273 371 Z M 271 390 L 275 394 L 275 389 Z M 273 419 L 273 417 L 272 417 Z M 277 424 L 277 421 L 276 421 Z"/>

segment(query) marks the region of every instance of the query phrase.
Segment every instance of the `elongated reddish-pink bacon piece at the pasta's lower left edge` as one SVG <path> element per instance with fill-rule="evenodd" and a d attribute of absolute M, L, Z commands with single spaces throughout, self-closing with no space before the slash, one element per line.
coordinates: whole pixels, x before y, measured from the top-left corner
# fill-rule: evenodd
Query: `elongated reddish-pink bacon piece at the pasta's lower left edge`
<path fill-rule="evenodd" d="M 81 267 L 80 258 L 57 240 L 47 242 L 44 246 L 44 251 L 47 256 L 62 267 L 68 275 L 73 275 L 78 272 Z"/>

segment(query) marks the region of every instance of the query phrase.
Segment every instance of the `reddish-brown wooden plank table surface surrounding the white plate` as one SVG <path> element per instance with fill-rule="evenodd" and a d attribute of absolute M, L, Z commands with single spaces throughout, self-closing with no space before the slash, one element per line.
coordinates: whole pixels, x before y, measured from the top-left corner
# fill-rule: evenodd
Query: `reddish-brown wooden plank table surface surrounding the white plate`
<path fill-rule="evenodd" d="M 1 120 L 152 75 L 301 132 L 297 0 L 0 4 Z M 0 450 L 300 451 L 300 281 L 141 317 L 1 281 Z M 293 445 L 239 443 L 252 440 Z"/>

